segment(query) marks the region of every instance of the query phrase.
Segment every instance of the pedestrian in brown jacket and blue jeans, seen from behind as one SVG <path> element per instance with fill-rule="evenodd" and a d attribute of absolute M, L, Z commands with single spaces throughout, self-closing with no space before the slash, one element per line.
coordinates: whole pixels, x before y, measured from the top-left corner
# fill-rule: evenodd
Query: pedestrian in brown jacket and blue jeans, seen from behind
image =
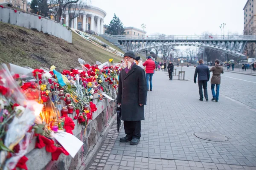
<path fill-rule="evenodd" d="M 223 67 L 220 65 L 220 61 L 218 59 L 215 60 L 215 66 L 211 68 L 210 72 L 212 72 L 212 79 L 211 79 L 212 101 L 215 100 L 215 102 L 218 102 L 218 96 L 220 94 L 220 85 L 221 85 L 221 74 L 224 73 Z M 216 94 L 214 91 L 215 85 L 216 85 Z"/>

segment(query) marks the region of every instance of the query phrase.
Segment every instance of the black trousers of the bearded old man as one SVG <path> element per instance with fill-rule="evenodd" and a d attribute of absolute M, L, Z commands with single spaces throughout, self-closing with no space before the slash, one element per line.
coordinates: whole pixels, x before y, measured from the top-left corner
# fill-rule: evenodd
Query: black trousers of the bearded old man
<path fill-rule="evenodd" d="M 124 121 L 126 136 L 140 139 L 140 126 L 140 121 Z"/>

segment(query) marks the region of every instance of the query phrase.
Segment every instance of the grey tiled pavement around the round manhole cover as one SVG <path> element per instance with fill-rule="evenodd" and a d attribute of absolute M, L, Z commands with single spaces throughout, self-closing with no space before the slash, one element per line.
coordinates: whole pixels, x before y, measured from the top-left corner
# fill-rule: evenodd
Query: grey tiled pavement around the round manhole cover
<path fill-rule="evenodd" d="M 189 71 L 187 69 L 186 71 Z M 219 102 L 198 100 L 192 81 L 153 76 L 142 137 L 137 146 L 120 143 L 113 126 L 89 169 L 97 170 L 256 170 L 256 112 L 220 95 Z M 210 90 L 208 89 L 209 96 Z M 195 132 L 214 132 L 225 142 L 198 139 Z M 117 136 L 118 135 L 118 136 Z"/>

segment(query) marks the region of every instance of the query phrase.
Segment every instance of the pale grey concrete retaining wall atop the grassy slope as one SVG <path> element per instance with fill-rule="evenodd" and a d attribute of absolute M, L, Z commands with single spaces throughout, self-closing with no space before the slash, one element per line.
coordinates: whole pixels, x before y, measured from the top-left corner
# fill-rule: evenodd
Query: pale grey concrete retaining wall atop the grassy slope
<path fill-rule="evenodd" d="M 55 37 L 72 43 L 72 32 L 56 21 L 46 17 L 24 12 L 15 12 L 12 8 L 0 8 L 0 21 L 25 28 L 35 28 L 38 31 L 53 35 Z"/>

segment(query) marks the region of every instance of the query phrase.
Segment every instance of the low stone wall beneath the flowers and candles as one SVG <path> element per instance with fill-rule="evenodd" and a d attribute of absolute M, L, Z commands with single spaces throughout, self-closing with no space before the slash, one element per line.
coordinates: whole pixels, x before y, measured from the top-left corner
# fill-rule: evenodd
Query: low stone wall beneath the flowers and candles
<path fill-rule="evenodd" d="M 115 95 L 116 97 L 116 95 Z M 84 132 L 84 129 L 79 130 L 79 125 L 77 120 L 74 120 L 76 126 L 73 130 L 73 134 L 84 142 L 84 145 L 81 147 L 79 152 L 74 158 L 71 156 L 65 156 L 63 153 L 59 157 L 58 161 L 51 161 L 51 153 L 46 152 L 45 148 L 34 149 L 35 140 L 32 139 L 31 144 L 29 145 L 29 150 L 26 156 L 28 161 L 26 165 L 29 170 L 84 170 L 91 159 L 91 156 L 88 156 L 90 151 L 93 150 L 97 142 L 100 142 L 104 138 L 102 132 L 111 126 L 110 124 L 115 122 L 115 107 L 116 103 L 110 101 L 109 99 L 104 99 L 99 102 L 96 107 L 98 108 L 96 112 L 93 113 L 93 120 L 90 120 L 88 123 L 87 129 Z M 111 123 L 109 123 L 111 122 Z M 80 125 L 81 128 L 81 125 Z M 103 137 L 102 137 L 103 136 Z M 72 143 L 70 143 L 72 144 Z M 95 148 L 97 150 L 97 148 Z M 88 158 L 87 158 L 88 156 Z M 93 156 L 93 155 L 92 155 Z"/>

